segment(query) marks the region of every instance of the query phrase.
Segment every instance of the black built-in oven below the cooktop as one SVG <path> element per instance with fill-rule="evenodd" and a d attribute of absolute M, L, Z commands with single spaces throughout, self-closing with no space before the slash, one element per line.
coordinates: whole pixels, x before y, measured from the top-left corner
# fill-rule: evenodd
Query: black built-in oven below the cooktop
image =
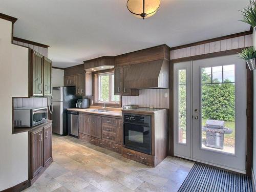
<path fill-rule="evenodd" d="M 123 114 L 124 146 L 151 155 L 151 116 Z"/>

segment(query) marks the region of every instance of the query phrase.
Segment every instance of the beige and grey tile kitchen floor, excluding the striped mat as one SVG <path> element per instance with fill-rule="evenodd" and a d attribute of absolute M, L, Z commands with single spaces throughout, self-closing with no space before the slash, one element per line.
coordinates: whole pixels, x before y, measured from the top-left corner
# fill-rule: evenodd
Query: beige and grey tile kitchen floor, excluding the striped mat
<path fill-rule="evenodd" d="M 177 191 L 194 163 L 167 157 L 148 167 L 70 136 L 53 136 L 53 163 L 24 191 Z"/>

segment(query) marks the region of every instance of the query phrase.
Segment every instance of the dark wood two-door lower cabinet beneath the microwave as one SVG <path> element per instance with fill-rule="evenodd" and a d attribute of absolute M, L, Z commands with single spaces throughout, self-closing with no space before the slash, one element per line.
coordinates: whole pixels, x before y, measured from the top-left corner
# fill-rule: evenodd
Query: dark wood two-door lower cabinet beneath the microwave
<path fill-rule="evenodd" d="M 52 163 L 52 121 L 33 127 L 29 139 L 29 180 L 32 185 Z"/>

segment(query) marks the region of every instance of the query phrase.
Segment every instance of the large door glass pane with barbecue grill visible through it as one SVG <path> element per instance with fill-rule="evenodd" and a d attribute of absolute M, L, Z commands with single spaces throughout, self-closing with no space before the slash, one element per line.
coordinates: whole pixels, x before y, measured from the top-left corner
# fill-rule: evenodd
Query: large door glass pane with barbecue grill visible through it
<path fill-rule="evenodd" d="M 202 148 L 234 154 L 234 91 L 234 65 L 201 69 Z"/>

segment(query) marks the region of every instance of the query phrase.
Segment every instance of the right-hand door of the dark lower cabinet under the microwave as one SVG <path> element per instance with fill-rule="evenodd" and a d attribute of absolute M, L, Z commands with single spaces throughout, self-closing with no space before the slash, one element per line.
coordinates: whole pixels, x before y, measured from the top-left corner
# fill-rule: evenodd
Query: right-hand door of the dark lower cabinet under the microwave
<path fill-rule="evenodd" d="M 44 165 L 52 159 L 52 124 L 44 127 Z"/>

